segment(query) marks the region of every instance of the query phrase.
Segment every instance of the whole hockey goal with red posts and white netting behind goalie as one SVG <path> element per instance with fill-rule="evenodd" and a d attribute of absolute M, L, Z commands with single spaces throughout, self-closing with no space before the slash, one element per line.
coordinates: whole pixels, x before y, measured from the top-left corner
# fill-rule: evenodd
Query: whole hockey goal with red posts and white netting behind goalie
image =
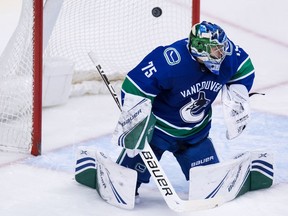
<path fill-rule="evenodd" d="M 18 26 L 0 57 L 0 150 L 32 152 L 36 145 L 32 154 L 37 155 L 40 141 L 33 139 L 35 129 L 41 136 L 41 109 L 35 106 L 41 106 L 41 99 L 35 95 L 41 98 L 42 93 L 35 89 L 39 87 L 35 74 L 42 72 L 34 68 L 33 33 L 41 15 L 35 15 L 39 10 L 35 2 L 23 1 Z M 88 56 L 93 51 L 115 89 L 120 89 L 126 73 L 153 48 L 188 36 L 194 2 L 199 4 L 199 0 L 46 0 L 40 60 L 61 57 L 73 62 L 70 96 L 106 93 Z"/>

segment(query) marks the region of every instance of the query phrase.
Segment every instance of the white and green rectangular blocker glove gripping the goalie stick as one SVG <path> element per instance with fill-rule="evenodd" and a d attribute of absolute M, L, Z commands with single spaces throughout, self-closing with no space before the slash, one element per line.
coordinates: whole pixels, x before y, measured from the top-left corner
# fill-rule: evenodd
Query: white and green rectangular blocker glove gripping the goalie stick
<path fill-rule="evenodd" d="M 126 93 L 112 143 L 130 150 L 143 150 L 146 139 L 152 138 L 156 122 L 151 109 L 149 99 Z"/>

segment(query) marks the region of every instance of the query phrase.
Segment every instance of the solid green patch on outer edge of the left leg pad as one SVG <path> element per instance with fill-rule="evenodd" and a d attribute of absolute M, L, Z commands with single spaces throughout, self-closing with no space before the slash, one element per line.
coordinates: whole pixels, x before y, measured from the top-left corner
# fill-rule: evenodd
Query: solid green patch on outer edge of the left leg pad
<path fill-rule="evenodd" d="M 87 169 L 75 175 L 75 180 L 78 183 L 83 184 L 93 189 L 97 189 L 96 179 L 97 179 L 96 169 Z"/>

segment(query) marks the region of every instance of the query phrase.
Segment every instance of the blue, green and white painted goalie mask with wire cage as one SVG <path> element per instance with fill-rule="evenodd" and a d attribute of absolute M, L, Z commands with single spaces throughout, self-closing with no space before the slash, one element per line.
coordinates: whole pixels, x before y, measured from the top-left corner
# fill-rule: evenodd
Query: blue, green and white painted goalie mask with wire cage
<path fill-rule="evenodd" d="M 192 56 L 203 62 L 212 73 L 219 75 L 229 47 L 222 28 L 206 21 L 195 24 L 190 32 L 188 47 Z"/>

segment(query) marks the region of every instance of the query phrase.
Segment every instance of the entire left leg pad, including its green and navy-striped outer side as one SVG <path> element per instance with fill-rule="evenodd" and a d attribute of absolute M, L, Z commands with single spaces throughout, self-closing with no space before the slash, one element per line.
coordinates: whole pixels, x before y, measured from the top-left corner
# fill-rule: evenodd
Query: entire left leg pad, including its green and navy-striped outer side
<path fill-rule="evenodd" d="M 137 172 L 116 164 L 103 152 L 79 147 L 75 180 L 96 189 L 100 197 L 111 205 L 134 208 Z"/>

